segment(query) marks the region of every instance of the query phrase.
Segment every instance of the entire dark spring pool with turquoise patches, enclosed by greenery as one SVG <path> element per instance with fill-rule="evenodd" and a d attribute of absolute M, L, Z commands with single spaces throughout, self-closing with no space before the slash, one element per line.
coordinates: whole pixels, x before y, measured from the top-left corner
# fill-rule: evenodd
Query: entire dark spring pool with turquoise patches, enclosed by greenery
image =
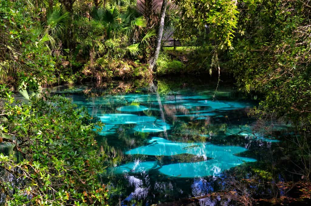
<path fill-rule="evenodd" d="M 197 205 L 232 205 L 230 198 L 208 195 L 243 187 L 254 198 L 288 195 L 279 185 L 301 179 L 293 173 L 299 163 L 290 161 L 297 150 L 292 140 L 299 137 L 290 124 L 249 117 L 256 95 L 238 92 L 230 80 L 215 92 L 216 85 L 196 77 L 59 86 L 52 92 L 93 116 L 99 153 L 109 165 L 100 175 L 111 192 L 109 205 L 204 195 Z"/>

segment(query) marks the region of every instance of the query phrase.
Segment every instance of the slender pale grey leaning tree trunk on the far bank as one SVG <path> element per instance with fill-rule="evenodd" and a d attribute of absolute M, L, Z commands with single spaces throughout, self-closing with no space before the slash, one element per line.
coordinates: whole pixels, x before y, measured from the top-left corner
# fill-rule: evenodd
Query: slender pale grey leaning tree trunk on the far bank
<path fill-rule="evenodd" d="M 163 0 L 161 11 L 160 11 L 160 25 L 158 30 L 158 37 L 157 37 L 157 44 L 156 44 L 156 50 L 154 51 L 153 55 L 151 56 L 149 60 L 149 69 L 153 70 L 154 66 L 156 65 L 156 60 L 159 57 L 160 48 L 161 48 L 161 40 L 164 30 L 164 19 L 165 19 L 165 12 L 167 7 L 167 0 Z"/>

